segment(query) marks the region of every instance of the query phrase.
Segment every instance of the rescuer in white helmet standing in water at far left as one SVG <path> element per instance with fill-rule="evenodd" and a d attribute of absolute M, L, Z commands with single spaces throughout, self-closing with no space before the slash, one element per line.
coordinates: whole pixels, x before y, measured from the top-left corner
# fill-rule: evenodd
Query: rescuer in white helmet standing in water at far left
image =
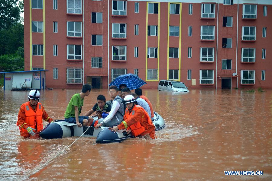
<path fill-rule="evenodd" d="M 40 138 L 40 131 L 43 129 L 43 119 L 52 122 L 53 119 L 48 116 L 44 106 L 39 103 L 40 92 L 31 90 L 28 94 L 29 102 L 23 103 L 18 113 L 17 126 L 20 134 L 24 138 Z"/>

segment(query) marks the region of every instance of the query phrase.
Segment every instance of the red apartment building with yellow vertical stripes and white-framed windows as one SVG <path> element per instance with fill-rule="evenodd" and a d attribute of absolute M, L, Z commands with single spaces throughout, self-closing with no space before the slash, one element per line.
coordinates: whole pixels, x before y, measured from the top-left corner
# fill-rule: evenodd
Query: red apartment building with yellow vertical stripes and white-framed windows
<path fill-rule="evenodd" d="M 24 1 L 25 70 L 46 86 L 107 88 L 137 74 L 189 88 L 272 88 L 272 2 Z"/>

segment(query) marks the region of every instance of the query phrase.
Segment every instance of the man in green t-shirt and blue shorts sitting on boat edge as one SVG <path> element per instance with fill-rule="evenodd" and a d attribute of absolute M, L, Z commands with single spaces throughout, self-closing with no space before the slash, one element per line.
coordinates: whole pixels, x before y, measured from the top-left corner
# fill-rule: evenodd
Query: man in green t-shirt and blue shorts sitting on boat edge
<path fill-rule="evenodd" d="M 84 97 L 90 94 L 91 89 L 92 86 L 90 84 L 84 84 L 81 93 L 73 95 L 64 114 L 66 122 L 75 123 L 78 127 L 81 127 L 82 125 L 87 126 L 89 122 L 92 124 L 91 117 L 79 116 L 83 106 Z"/>

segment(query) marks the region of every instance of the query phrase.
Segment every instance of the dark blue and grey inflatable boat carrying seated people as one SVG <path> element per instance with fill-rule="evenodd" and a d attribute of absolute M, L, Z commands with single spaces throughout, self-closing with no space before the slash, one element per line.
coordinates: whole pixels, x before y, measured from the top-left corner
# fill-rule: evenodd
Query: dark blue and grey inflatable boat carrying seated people
<path fill-rule="evenodd" d="M 154 112 L 155 119 L 153 124 L 155 131 L 165 127 L 164 119 L 156 112 Z M 97 120 L 98 118 L 94 118 Z M 48 124 L 41 132 L 40 137 L 44 139 L 66 138 L 69 136 L 80 136 L 88 129 L 88 126 L 78 127 L 77 124 L 69 123 L 64 120 L 55 120 Z M 108 127 L 101 126 L 99 129 L 90 127 L 83 135 L 83 137 L 96 137 L 96 143 L 116 143 L 122 142 L 127 138 L 132 138 L 131 134 L 126 134 L 124 130 L 118 130 L 116 133 L 108 130 Z"/>

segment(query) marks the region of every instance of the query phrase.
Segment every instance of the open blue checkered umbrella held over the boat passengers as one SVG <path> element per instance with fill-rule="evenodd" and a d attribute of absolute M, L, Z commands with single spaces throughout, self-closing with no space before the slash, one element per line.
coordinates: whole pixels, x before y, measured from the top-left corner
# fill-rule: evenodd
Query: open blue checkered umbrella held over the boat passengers
<path fill-rule="evenodd" d="M 137 89 L 144 84 L 146 84 L 145 81 L 143 81 L 141 78 L 139 78 L 137 75 L 134 74 L 125 74 L 125 75 L 120 75 L 115 78 L 112 83 L 108 84 L 109 86 L 115 85 L 119 88 L 120 84 L 126 84 L 127 87 L 132 90 L 132 89 Z"/>

